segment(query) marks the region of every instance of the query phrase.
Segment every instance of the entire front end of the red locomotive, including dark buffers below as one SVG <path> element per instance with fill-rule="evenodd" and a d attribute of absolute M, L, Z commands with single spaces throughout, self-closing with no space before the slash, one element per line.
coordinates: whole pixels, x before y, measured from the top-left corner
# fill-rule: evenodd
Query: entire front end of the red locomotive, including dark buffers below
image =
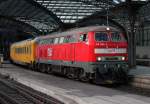
<path fill-rule="evenodd" d="M 118 30 L 106 28 L 106 30 L 92 32 L 91 35 L 93 69 L 97 82 L 99 79 L 104 79 L 104 83 L 124 82 L 128 72 L 128 45 L 124 34 Z"/>

